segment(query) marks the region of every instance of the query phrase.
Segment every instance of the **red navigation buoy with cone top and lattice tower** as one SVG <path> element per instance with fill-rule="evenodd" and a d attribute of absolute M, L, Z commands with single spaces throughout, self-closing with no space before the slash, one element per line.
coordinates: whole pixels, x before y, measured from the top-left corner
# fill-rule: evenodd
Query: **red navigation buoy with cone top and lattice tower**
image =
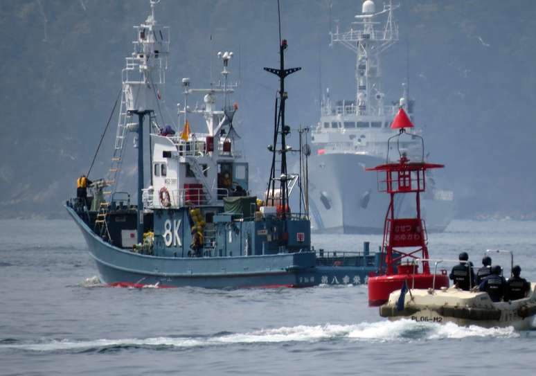
<path fill-rule="evenodd" d="M 401 108 L 391 128 L 406 127 L 413 127 L 413 124 Z M 402 133 L 397 134 L 396 137 L 401 135 Z M 418 135 L 413 136 L 420 138 Z M 395 163 L 366 169 L 377 172 L 379 192 L 388 193 L 391 197 L 385 216 L 382 262 L 377 276 L 368 278 L 368 305 L 386 303 L 389 294 L 401 289 L 404 281 L 409 289 L 440 289 L 449 286 L 447 271 L 443 270 L 440 274 L 430 272 L 426 226 L 420 215 L 420 193 L 426 190 L 426 171 L 443 167 L 444 165 L 425 161 L 410 161 L 406 154 L 400 153 L 400 159 Z M 395 195 L 404 194 L 415 195 L 415 217 L 400 218 L 395 215 L 395 204 L 403 201 L 395 200 Z"/>

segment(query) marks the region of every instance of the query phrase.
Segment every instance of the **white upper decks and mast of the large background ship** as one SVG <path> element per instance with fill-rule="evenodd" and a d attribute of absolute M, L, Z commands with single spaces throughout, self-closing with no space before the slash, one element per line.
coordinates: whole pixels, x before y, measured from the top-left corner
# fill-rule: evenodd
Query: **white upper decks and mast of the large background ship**
<path fill-rule="evenodd" d="M 350 30 L 341 32 L 337 24 L 331 45 L 342 44 L 357 56 L 355 66 L 356 94 L 350 100 L 330 98 L 329 89 L 321 104 L 320 123 L 312 132 L 312 143 L 321 153 L 352 153 L 385 157 L 387 139 L 396 132 L 389 125 L 399 107 L 412 118 L 413 101 L 404 96 L 386 103 L 381 87 L 380 55 L 398 40 L 398 27 L 393 19 L 391 2 L 375 12 L 372 0 L 363 3 L 363 14 L 356 15 Z M 384 24 L 379 19 L 386 18 Z M 412 119 L 413 120 L 413 119 Z M 411 142 L 402 145 L 410 147 Z"/>

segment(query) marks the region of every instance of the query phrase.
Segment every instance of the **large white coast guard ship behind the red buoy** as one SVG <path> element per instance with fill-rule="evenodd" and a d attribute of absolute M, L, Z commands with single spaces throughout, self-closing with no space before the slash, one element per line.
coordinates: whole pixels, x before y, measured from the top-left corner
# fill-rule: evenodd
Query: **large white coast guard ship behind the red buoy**
<path fill-rule="evenodd" d="M 357 55 L 355 98 L 333 102 L 329 90 L 321 103 L 321 118 L 311 132 L 313 154 L 309 161 L 310 212 L 314 231 L 325 233 L 381 233 L 387 197 L 379 195 L 377 181 L 365 168 L 388 158 L 387 140 L 395 134 L 391 121 L 400 107 L 413 120 L 414 101 L 407 87 L 396 102 L 386 102 L 380 86 L 380 55 L 398 40 L 391 1 L 377 12 L 366 0 L 350 30 L 336 26 L 331 44 L 342 44 Z M 383 20 L 383 21 L 380 21 Z M 416 134 L 421 129 L 415 129 Z M 420 146 L 418 139 L 400 147 L 411 156 Z M 453 193 L 438 187 L 435 177 L 427 181 L 429 192 L 422 202 L 429 231 L 443 231 L 453 215 Z M 404 203 L 400 215 L 414 203 Z"/>

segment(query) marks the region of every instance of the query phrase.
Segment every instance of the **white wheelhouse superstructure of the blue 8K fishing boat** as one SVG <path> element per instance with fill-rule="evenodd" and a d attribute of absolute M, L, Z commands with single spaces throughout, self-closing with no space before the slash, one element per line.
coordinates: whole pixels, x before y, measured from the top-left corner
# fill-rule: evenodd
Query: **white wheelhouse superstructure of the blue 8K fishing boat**
<path fill-rule="evenodd" d="M 222 206 L 223 198 L 248 189 L 248 165 L 236 141 L 233 116 L 238 105 L 229 104 L 235 85 L 227 82 L 227 70 L 233 53 L 218 53 L 224 69 L 223 84 L 210 89 L 193 89 L 190 79 L 183 78 L 184 104 L 177 105 L 182 129 L 161 129 L 151 134 L 152 186 L 145 190 L 148 208 L 180 208 L 182 206 Z M 203 105 L 191 108 L 190 95 L 202 95 Z M 217 96 L 223 96 L 217 109 Z M 193 132 L 193 115 L 202 116 L 206 131 Z M 197 127 L 199 129 L 199 126 Z M 238 191 L 237 191 L 238 190 Z"/>

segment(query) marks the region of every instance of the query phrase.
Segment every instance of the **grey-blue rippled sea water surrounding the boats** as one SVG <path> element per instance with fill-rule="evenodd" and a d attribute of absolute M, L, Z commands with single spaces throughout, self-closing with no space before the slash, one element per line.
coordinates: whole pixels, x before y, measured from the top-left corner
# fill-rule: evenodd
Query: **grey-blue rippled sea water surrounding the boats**
<path fill-rule="evenodd" d="M 379 235 L 314 235 L 361 250 Z M 515 252 L 536 280 L 536 222 L 453 222 L 432 256 Z M 366 285 L 125 289 L 100 283 L 67 220 L 0 221 L 0 375 L 534 375 L 536 332 L 389 322 Z M 492 254 L 505 267 L 506 256 Z M 446 266 L 446 265 L 445 265 Z"/>

